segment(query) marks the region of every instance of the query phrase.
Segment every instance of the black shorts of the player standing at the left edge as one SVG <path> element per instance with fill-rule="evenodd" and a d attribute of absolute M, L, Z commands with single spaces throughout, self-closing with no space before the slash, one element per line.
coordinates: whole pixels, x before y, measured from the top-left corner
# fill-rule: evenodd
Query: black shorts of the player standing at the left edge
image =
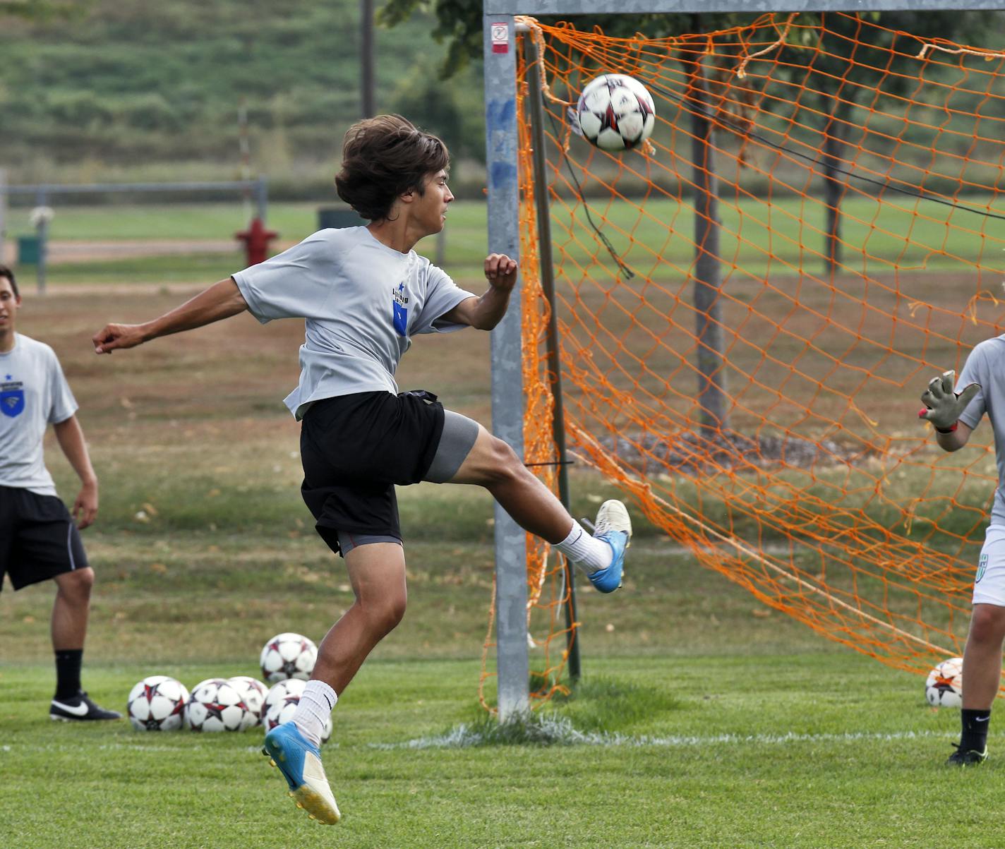
<path fill-rule="evenodd" d="M 87 568 L 80 533 L 55 495 L 0 486 L 0 589 L 15 590 Z"/>

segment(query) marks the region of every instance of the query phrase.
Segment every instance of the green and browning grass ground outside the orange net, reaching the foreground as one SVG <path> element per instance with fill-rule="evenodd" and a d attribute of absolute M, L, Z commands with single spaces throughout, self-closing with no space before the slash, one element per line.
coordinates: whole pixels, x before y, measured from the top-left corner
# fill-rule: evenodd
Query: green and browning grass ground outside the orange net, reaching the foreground
<path fill-rule="evenodd" d="M 148 674 L 188 686 L 254 674 L 268 637 L 318 639 L 352 599 L 299 502 L 297 427 L 280 403 L 299 323 L 242 315 L 90 353 L 106 321 L 179 299 L 63 288 L 29 294 L 20 321 L 60 355 L 102 478 L 84 683 L 119 708 Z M 486 335 L 420 340 L 398 377 L 488 419 Z M 71 498 L 54 444 L 48 459 Z M 573 489 L 577 514 L 612 491 L 582 470 Z M 477 704 L 490 500 L 433 484 L 400 499 L 409 610 L 346 691 L 326 748 L 342 824 L 294 810 L 260 732 L 50 722 L 51 587 L 8 586 L 4 846 L 997 845 L 1000 731 L 985 768 L 946 770 L 958 714 L 931 709 L 920 678 L 769 611 L 641 520 L 624 590 L 581 594 L 581 687 L 550 705 L 537 741 L 500 741 Z"/>

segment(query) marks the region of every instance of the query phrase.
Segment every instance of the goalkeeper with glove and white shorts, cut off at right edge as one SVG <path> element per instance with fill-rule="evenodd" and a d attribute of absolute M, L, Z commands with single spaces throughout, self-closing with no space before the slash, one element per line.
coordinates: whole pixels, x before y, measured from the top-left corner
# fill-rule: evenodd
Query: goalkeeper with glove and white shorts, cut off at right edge
<path fill-rule="evenodd" d="M 919 413 L 936 431 L 946 451 L 958 451 L 988 414 L 995 435 L 998 488 L 991 521 L 974 578 L 970 633 L 963 650 L 963 730 L 948 764 L 983 764 L 988 757 L 991 704 L 998 694 L 1005 639 L 1005 336 L 974 347 L 956 386 L 953 372 L 933 378 L 922 395 Z"/>

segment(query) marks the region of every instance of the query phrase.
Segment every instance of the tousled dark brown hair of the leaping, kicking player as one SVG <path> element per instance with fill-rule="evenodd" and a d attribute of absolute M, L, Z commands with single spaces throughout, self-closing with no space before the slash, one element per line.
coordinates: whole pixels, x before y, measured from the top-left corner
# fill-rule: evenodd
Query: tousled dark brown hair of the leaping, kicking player
<path fill-rule="evenodd" d="M 361 217 L 381 221 L 399 195 L 410 190 L 421 195 L 425 178 L 449 163 L 438 138 L 400 115 L 381 115 L 349 128 L 335 188 Z"/>

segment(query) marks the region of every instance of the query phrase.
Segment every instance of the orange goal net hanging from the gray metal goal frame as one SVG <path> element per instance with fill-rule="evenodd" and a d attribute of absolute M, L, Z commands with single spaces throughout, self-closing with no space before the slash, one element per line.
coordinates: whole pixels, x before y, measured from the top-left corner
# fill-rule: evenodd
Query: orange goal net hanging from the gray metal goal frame
<path fill-rule="evenodd" d="M 837 13 L 659 39 L 522 24 L 526 461 L 556 459 L 545 193 L 568 454 L 827 638 L 919 672 L 962 653 L 993 437 L 947 454 L 918 410 L 1005 325 L 1005 54 Z M 602 72 L 653 95 L 639 150 L 572 130 Z M 567 588 L 529 552 L 544 698 Z"/>

